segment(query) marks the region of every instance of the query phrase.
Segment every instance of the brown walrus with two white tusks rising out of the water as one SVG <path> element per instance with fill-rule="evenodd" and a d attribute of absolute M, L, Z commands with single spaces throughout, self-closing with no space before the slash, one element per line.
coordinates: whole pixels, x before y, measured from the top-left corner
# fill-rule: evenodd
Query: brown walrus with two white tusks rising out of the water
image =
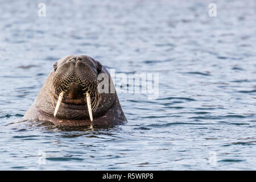
<path fill-rule="evenodd" d="M 56 61 L 38 97 L 24 115 L 26 120 L 61 126 L 118 125 L 127 122 L 117 93 L 102 92 L 99 75 L 113 81 L 107 69 L 92 57 L 69 55 Z M 106 80 L 105 80 L 106 81 Z M 106 86 L 106 85 L 104 85 Z M 112 87 L 112 88 L 110 88 Z"/>

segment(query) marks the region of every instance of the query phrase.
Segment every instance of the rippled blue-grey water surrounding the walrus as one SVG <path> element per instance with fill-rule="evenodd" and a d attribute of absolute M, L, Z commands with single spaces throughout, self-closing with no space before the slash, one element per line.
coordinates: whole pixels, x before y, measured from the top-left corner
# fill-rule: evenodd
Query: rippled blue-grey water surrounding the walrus
<path fill-rule="evenodd" d="M 209 3 L 0 1 L 0 169 L 255 170 L 256 3 Z M 53 63 L 81 54 L 159 73 L 158 99 L 118 92 L 120 126 L 22 121 Z"/>

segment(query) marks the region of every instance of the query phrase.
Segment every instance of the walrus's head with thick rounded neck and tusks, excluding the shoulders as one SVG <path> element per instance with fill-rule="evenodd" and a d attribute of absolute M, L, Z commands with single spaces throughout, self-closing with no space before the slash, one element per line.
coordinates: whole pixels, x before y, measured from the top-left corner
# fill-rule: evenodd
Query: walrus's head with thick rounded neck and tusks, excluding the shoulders
<path fill-rule="evenodd" d="M 117 100 L 116 93 L 98 91 L 101 73 L 111 79 L 106 68 L 89 56 L 70 55 L 56 61 L 39 94 L 39 110 L 61 119 L 93 121 L 100 117 Z"/>

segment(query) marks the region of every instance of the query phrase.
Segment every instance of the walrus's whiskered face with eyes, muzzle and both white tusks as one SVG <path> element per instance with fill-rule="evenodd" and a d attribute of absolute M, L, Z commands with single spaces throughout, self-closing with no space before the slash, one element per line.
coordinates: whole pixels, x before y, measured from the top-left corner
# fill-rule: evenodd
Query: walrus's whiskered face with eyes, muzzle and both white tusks
<path fill-rule="evenodd" d="M 58 98 L 54 116 L 61 102 L 86 104 L 92 121 L 92 110 L 95 111 L 101 101 L 97 76 L 102 71 L 102 65 L 89 56 L 72 55 L 57 61 L 53 68 L 51 91 L 52 96 Z"/>

